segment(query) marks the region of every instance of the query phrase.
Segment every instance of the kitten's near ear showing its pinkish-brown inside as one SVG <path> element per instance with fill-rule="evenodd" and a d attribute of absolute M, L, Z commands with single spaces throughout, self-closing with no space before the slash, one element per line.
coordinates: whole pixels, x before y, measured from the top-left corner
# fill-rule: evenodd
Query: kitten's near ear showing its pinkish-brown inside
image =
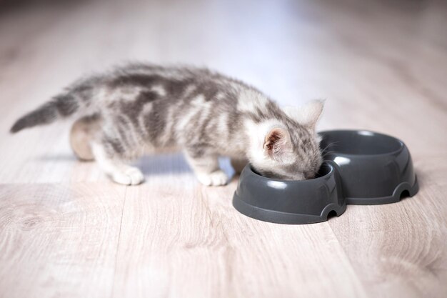
<path fill-rule="evenodd" d="M 281 159 L 283 154 L 293 149 L 290 134 L 286 129 L 274 128 L 268 131 L 264 139 L 263 150 L 273 159 Z"/>

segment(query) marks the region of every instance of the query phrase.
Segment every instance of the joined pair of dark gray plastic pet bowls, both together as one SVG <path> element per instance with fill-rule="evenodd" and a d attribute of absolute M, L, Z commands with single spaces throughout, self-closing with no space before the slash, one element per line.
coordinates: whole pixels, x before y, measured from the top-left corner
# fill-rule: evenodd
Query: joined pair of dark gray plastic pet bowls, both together
<path fill-rule="evenodd" d="M 386 204 L 413 197 L 418 182 L 403 141 L 372 131 L 322 131 L 325 162 L 314 179 L 286 181 L 263 177 L 247 164 L 233 206 L 265 222 L 310 224 L 337 216 L 346 204 Z"/>

